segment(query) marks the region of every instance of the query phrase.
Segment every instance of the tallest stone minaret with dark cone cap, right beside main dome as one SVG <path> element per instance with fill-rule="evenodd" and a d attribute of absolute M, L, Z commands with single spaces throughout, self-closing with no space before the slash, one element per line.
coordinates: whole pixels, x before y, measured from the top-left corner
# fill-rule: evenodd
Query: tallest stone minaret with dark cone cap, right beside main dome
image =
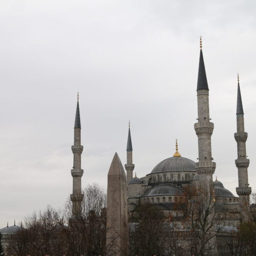
<path fill-rule="evenodd" d="M 197 78 L 197 112 L 198 123 L 194 128 L 198 137 L 198 162 L 196 163 L 196 171 L 199 174 L 199 182 L 212 184 L 212 174 L 214 174 L 216 163 L 212 162 L 211 155 L 211 135 L 214 124 L 210 122 L 209 113 L 209 88 L 204 67 L 204 59 L 202 52 L 202 37 L 200 37 L 200 58 Z"/>

